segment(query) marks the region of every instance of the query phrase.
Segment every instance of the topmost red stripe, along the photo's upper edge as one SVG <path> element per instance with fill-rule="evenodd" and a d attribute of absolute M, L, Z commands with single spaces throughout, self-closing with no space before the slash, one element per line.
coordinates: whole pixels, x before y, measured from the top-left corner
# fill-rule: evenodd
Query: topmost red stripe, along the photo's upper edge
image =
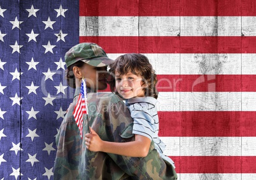
<path fill-rule="evenodd" d="M 254 0 L 80 0 L 80 16 L 255 16 Z"/>

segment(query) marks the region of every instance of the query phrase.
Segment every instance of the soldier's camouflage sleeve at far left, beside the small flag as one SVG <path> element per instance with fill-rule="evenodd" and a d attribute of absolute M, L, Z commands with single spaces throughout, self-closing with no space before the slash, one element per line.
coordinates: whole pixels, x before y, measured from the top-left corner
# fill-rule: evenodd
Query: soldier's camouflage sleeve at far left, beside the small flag
<path fill-rule="evenodd" d="M 80 179 L 78 165 L 82 152 L 82 139 L 72 112 L 70 110 L 64 118 L 56 137 L 57 154 L 53 179 Z"/>

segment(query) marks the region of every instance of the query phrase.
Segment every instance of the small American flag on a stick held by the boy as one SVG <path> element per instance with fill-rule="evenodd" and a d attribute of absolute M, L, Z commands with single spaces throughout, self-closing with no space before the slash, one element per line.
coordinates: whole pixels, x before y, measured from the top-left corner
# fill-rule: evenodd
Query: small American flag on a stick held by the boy
<path fill-rule="evenodd" d="M 86 86 L 85 79 L 82 79 L 81 90 L 76 103 L 73 115 L 76 120 L 76 124 L 80 131 L 80 136 L 83 139 L 83 115 L 88 114 L 87 112 L 87 96 L 86 96 Z"/>

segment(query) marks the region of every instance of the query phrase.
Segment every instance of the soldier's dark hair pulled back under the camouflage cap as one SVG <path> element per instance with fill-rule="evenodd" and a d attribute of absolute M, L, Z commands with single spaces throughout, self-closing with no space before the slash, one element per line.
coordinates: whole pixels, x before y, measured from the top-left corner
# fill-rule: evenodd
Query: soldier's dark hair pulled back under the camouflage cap
<path fill-rule="evenodd" d="M 65 78 L 68 82 L 68 86 L 72 88 L 76 88 L 76 77 L 73 73 L 73 67 L 83 67 L 85 63 L 83 61 L 77 61 L 76 63 L 73 63 L 73 65 L 70 65 L 66 71 L 65 71 Z"/>

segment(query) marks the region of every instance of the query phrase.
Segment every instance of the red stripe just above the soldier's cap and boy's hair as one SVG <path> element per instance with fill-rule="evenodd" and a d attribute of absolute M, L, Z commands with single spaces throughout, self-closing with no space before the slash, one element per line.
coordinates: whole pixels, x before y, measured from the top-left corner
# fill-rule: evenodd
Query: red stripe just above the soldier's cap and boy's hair
<path fill-rule="evenodd" d="M 256 37 L 240 36 L 80 36 L 107 53 L 256 53 Z"/>

